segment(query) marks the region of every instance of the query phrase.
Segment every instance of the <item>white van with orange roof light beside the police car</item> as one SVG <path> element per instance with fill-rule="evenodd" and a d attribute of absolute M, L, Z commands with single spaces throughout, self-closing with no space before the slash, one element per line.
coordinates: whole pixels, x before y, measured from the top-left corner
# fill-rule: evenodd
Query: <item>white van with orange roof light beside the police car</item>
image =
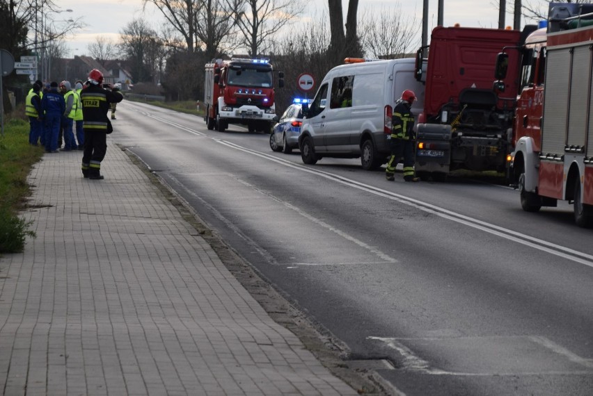
<path fill-rule="evenodd" d="M 365 170 L 387 162 L 391 114 L 404 90 L 418 100 L 414 115 L 424 105 L 424 85 L 414 78 L 414 58 L 364 60 L 346 58 L 331 69 L 306 109 L 299 149 L 303 163 L 323 157 L 358 158 Z"/>

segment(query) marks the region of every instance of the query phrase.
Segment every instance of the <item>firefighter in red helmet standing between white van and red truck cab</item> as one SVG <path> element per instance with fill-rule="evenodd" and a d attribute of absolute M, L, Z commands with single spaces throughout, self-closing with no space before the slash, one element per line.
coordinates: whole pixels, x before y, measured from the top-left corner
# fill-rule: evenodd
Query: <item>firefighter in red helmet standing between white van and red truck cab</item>
<path fill-rule="evenodd" d="M 395 179 L 393 173 L 402 156 L 404 157 L 404 181 L 420 181 L 414 172 L 416 135 L 413 131 L 414 115 L 411 108 L 415 100 L 416 94 L 411 90 L 405 90 L 393 109 L 390 135 L 391 158 L 385 171 L 388 181 Z"/>

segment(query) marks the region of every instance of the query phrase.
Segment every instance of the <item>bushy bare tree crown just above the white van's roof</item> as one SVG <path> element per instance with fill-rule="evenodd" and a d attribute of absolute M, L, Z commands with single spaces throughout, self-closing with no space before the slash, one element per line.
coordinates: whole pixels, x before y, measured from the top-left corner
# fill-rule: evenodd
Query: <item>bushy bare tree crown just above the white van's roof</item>
<path fill-rule="evenodd" d="M 404 16 L 400 3 L 390 10 L 381 8 L 371 13 L 365 10 L 358 24 L 362 32 L 361 43 L 371 58 L 404 58 L 416 50 L 414 26 L 418 23 L 413 17 Z"/>

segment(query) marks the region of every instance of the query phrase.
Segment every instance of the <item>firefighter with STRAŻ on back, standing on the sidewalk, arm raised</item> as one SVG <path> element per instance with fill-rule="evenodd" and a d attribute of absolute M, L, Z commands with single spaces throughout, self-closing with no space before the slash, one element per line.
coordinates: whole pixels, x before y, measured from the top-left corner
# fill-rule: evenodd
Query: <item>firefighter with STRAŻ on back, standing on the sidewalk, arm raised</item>
<path fill-rule="evenodd" d="M 113 131 L 107 112 L 112 103 L 122 101 L 120 92 L 111 92 L 102 87 L 103 74 L 93 69 L 88 74 L 88 86 L 81 91 L 84 151 L 82 174 L 88 179 L 103 179 L 101 161 L 107 151 L 107 133 Z"/>

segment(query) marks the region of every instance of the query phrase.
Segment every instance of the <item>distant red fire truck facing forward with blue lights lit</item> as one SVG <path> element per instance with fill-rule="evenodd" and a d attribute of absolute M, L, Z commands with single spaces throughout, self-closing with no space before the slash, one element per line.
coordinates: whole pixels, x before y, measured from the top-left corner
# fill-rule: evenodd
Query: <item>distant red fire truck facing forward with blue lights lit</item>
<path fill-rule="evenodd" d="M 206 64 L 204 120 L 208 129 L 224 132 L 229 123 L 244 124 L 250 132 L 269 132 L 277 119 L 274 71 L 265 59 L 214 59 Z M 278 87 L 284 86 L 278 73 Z"/>

